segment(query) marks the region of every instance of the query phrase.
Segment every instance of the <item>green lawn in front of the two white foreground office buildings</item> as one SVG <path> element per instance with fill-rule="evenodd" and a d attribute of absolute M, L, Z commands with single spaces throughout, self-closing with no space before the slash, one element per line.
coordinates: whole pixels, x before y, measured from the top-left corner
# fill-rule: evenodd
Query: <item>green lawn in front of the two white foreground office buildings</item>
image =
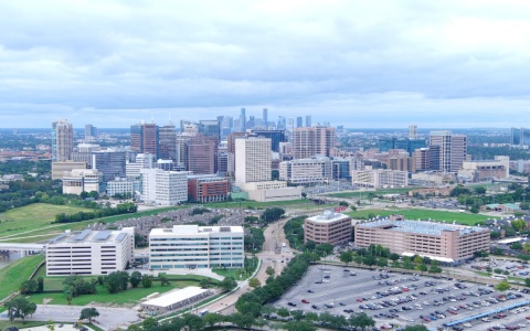
<path fill-rule="evenodd" d="M 44 289 L 47 290 L 47 278 L 44 280 Z M 59 287 L 60 282 L 54 281 L 53 287 Z M 145 298 L 151 293 L 159 292 L 163 293 L 176 288 L 184 288 L 188 286 L 198 286 L 195 281 L 179 281 L 171 282 L 169 286 L 160 286 L 159 281 L 153 281 L 151 288 L 144 288 L 141 286 L 137 288 L 129 288 L 126 291 L 118 293 L 109 293 L 103 286 L 97 286 L 97 293 L 80 296 L 72 300 L 74 306 L 85 306 L 91 302 L 105 302 L 105 303 L 116 303 L 116 305 L 136 305 L 141 298 Z M 62 285 L 61 288 L 62 289 Z M 66 296 L 64 293 L 34 293 L 29 296 L 29 300 L 34 303 L 43 303 L 44 299 L 52 299 L 50 305 L 68 305 Z"/>

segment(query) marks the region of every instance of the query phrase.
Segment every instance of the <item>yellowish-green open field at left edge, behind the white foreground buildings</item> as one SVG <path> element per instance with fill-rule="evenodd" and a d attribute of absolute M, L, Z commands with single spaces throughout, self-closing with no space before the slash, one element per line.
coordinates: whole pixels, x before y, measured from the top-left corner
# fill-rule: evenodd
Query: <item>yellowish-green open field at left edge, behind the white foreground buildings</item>
<path fill-rule="evenodd" d="M 0 214 L 0 238 L 51 225 L 55 221 L 56 214 L 75 214 L 88 211 L 91 210 L 47 203 L 33 203 L 10 210 Z"/>

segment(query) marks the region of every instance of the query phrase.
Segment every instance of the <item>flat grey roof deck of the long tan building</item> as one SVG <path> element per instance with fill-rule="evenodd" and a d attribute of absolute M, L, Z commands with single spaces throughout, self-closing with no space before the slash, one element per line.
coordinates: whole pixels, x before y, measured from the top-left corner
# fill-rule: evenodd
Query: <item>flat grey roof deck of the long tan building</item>
<path fill-rule="evenodd" d="M 443 231 L 457 231 L 460 235 L 469 234 L 474 232 L 488 231 L 486 227 L 479 226 L 466 226 L 459 224 L 447 224 L 428 221 L 391 221 L 390 218 L 378 220 L 368 223 L 357 224 L 359 227 L 383 227 L 386 231 L 393 232 L 409 232 L 430 235 L 442 235 Z"/>

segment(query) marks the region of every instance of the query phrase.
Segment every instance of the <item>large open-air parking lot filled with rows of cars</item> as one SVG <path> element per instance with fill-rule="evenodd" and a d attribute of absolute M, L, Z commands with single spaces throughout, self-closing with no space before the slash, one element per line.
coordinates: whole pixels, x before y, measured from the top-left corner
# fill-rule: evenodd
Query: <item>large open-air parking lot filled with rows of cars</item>
<path fill-rule="evenodd" d="M 499 292 L 446 277 L 311 266 L 275 306 L 343 316 L 365 312 L 379 328 L 423 323 L 453 330 L 530 330 L 529 299 L 519 291 Z M 462 322 L 452 324 L 455 321 Z"/>

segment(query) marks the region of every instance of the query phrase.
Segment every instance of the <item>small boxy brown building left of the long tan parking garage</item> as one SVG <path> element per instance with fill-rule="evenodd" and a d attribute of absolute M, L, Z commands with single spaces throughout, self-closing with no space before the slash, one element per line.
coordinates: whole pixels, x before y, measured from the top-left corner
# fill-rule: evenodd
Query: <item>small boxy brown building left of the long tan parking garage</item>
<path fill-rule="evenodd" d="M 304 243 L 344 244 L 351 242 L 351 229 L 350 216 L 325 211 L 304 221 Z"/>

